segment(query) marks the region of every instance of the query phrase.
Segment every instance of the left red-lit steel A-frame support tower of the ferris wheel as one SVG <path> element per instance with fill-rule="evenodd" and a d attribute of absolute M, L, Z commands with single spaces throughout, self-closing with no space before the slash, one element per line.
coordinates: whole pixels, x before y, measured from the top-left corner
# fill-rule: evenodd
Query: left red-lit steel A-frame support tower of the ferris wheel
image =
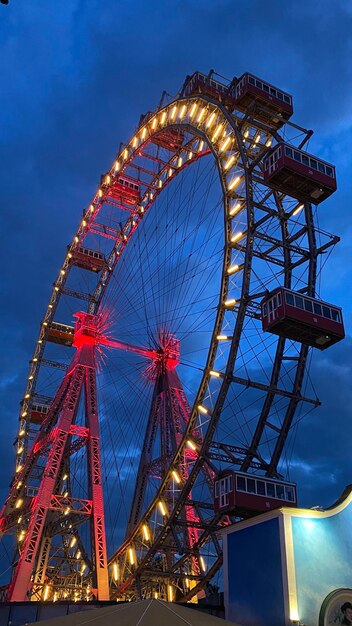
<path fill-rule="evenodd" d="M 36 459 L 45 446 L 50 445 L 44 473 L 37 496 L 30 504 L 29 524 L 22 549 L 20 551 L 13 580 L 9 586 L 7 599 L 20 602 L 28 598 L 28 590 L 34 574 L 34 586 L 38 580 L 38 566 L 42 564 L 43 544 L 46 538 L 46 522 L 49 510 L 60 514 L 70 511 L 88 515 L 90 518 L 92 564 L 94 588 L 92 592 L 99 600 L 109 599 L 108 564 L 104 522 L 104 502 L 100 464 L 98 403 L 96 392 L 96 355 L 95 345 L 89 334 L 91 327 L 85 327 L 84 314 L 78 314 L 76 330 L 79 340 L 77 352 L 68 368 L 60 388 L 53 399 L 50 410 L 41 426 L 26 462 L 14 482 L 10 495 L 0 517 L 0 530 L 3 532 L 14 526 L 13 508 L 18 497 L 17 487 L 31 473 Z M 92 316 L 87 316 L 92 318 Z M 92 322 L 89 319 L 89 322 Z M 87 332 L 88 331 L 88 332 Z M 86 334 L 87 333 L 87 334 Z M 84 390 L 86 428 L 74 424 L 78 403 Z M 55 419 L 58 417 L 57 425 Z M 54 423 L 53 423 L 54 422 Z M 56 493 L 64 454 L 67 453 L 69 438 L 80 436 L 85 439 L 87 450 L 88 483 L 90 500 L 67 498 Z M 94 547 L 93 547 L 94 546 Z M 45 572 L 40 578 L 45 579 Z"/>

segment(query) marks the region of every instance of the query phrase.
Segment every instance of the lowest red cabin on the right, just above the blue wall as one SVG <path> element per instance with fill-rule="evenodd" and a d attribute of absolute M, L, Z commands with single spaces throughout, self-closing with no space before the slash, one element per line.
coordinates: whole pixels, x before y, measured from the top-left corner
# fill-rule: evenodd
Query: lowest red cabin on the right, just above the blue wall
<path fill-rule="evenodd" d="M 294 483 L 233 470 L 225 470 L 214 482 L 216 513 L 263 513 L 281 506 L 297 506 Z"/>

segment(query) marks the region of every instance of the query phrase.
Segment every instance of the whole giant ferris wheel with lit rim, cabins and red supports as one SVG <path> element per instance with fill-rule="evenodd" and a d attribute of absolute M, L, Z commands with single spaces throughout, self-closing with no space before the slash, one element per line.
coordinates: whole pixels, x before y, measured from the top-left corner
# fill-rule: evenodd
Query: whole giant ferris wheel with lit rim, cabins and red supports
<path fill-rule="evenodd" d="M 3 598 L 192 600 L 222 526 L 295 504 L 309 346 L 344 333 L 317 293 L 338 238 L 312 207 L 335 169 L 292 112 L 251 74 L 196 72 L 101 176 L 21 402 Z"/>

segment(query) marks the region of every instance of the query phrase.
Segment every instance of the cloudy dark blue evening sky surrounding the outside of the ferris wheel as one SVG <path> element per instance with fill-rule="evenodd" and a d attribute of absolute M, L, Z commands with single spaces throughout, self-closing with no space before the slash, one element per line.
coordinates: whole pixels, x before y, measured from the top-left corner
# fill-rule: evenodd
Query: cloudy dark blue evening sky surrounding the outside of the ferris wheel
<path fill-rule="evenodd" d="M 301 422 L 291 477 L 301 503 L 329 505 L 352 482 L 352 8 L 345 0 L 10 0 L 0 5 L 0 499 L 28 361 L 51 284 L 82 209 L 139 116 L 187 74 L 251 71 L 294 96 L 309 151 L 336 165 L 319 208 L 341 236 L 321 296 L 344 309 L 347 337 L 314 353 L 322 407 Z"/>

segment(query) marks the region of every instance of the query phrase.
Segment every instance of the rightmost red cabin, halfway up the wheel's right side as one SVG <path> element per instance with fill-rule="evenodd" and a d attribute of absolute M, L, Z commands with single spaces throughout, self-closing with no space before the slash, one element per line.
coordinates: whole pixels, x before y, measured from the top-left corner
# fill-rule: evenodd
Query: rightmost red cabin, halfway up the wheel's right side
<path fill-rule="evenodd" d="M 264 331 L 325 350 L 345 336 L 342 310 L 279 287 L 261 302 Z"/>

